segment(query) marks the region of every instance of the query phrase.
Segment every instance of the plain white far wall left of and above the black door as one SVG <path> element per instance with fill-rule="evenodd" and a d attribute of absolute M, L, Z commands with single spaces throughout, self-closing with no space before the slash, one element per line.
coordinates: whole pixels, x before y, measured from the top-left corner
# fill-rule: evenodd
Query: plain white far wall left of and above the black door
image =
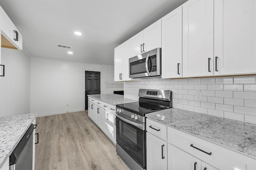
<path fill-rule="evenodd" d="M 31 57 L 30 65 L 30 112 L 38 116 L 84 110 L 84 71 L 102 70 L 98 64 L 38 57 Z"/>

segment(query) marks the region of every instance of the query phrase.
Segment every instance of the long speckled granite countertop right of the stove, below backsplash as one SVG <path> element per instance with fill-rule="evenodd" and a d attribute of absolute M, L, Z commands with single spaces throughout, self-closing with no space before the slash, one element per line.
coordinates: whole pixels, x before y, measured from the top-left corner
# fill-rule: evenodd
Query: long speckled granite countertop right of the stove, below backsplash
<path fill-rule="evenodd" d="M 256 159 L 256 125 L 170 108 L 146 117 Z"/>

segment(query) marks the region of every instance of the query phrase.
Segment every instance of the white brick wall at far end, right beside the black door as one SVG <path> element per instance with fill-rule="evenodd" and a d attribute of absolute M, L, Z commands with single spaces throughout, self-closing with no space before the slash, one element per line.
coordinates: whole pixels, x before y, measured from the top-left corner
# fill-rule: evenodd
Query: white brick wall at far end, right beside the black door
<path fill-rule="evenodd" d="M 114 91 L 124 90 L 123 82 L 114 82 L 114 66 L 102 65 L 101 94 L 113 94 Z"/>

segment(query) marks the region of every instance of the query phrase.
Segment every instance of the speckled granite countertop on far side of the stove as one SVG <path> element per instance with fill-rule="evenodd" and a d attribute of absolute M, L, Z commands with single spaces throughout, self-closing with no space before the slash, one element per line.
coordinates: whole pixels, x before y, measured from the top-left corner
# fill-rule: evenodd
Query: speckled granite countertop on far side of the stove
<path fill-rule="evenodd" d="M 117 104 L 138 102 L 138 100 L 124 98 L 124 96 L 120 94 L 92 94 L 88 96 L 95 98 L 96 100 L 111 104 L 113 106 L 116 106 Z"/>

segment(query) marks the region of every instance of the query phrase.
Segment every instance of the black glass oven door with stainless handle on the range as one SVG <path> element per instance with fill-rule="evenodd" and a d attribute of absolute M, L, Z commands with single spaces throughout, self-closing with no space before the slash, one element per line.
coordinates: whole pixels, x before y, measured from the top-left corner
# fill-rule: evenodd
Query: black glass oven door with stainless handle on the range
<path fill-rule="evenodd" d="M 116 143 L 146 168 L 145 124 L 116 112 Z"/>

